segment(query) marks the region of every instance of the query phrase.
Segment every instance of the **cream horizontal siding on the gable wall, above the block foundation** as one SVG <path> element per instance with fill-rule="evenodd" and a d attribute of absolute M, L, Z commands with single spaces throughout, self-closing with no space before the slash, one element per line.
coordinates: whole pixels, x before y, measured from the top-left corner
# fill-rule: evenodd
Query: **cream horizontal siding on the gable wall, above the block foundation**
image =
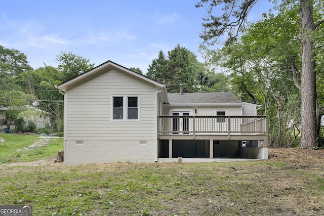
<path fill-rule="evenodd" d="M 140 121 L 111 121 L 112 96 L 139 97 Z M 156 88 L 110 70 L 66 92 L 67 140 L 155 140 Z"/>

